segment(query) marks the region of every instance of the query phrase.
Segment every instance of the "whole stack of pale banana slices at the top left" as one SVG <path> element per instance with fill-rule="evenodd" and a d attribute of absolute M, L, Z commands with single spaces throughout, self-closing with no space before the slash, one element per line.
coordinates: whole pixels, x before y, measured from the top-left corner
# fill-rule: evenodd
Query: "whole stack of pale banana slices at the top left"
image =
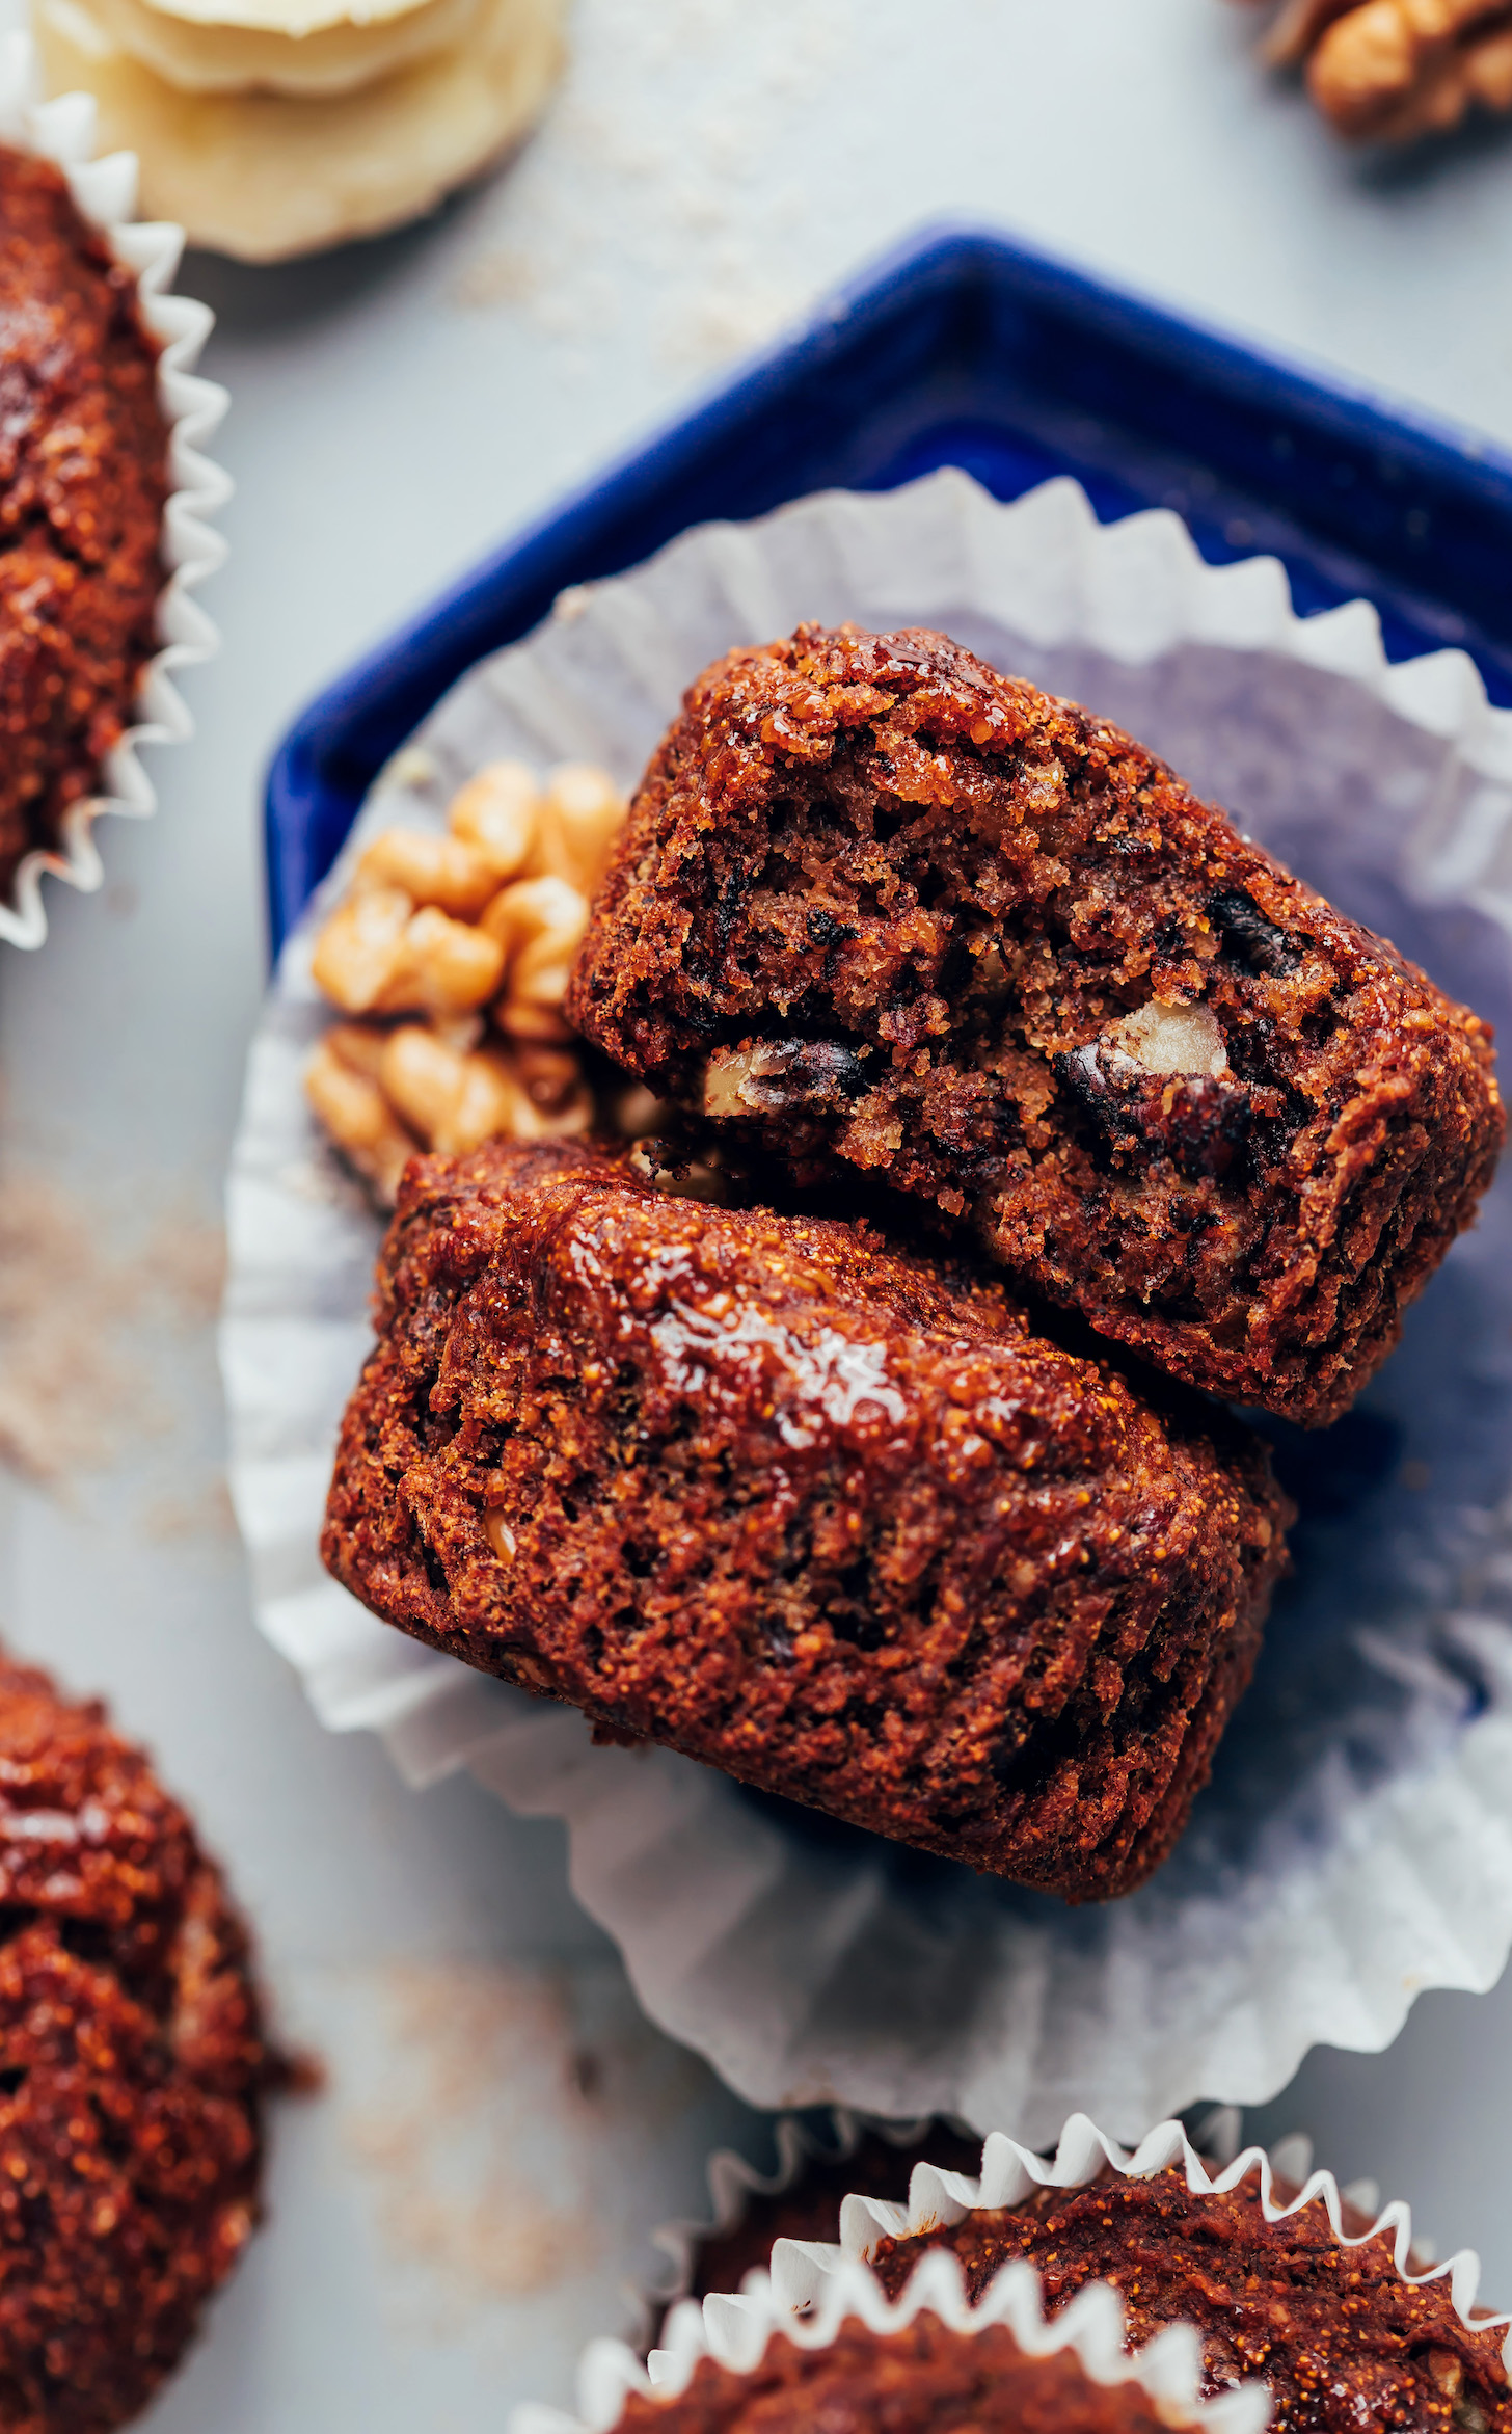
<path fill-rule="evenodd" d="M 85 88 L 141 200 L 251 263 L 416 219 L 516 144 L 565 0 L 34 0 L 49 92 Z"/>

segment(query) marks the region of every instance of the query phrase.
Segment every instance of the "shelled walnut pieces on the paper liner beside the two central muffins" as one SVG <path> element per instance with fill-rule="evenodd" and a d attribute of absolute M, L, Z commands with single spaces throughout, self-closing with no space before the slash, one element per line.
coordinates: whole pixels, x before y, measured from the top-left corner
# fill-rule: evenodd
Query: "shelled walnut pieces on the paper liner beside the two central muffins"
<path fill-rule="evenodd" d="M 416 1149 L 635 1129 L 597 1107 L 562 1020 L 623 813 L 601 769 L 570 764 L 541 786 L 494 762 L 443 835 L 390 828 L 363 852 L 314 944 L 312 976 L 346 1020 L 304 1088 L 385 1205 Z"/>

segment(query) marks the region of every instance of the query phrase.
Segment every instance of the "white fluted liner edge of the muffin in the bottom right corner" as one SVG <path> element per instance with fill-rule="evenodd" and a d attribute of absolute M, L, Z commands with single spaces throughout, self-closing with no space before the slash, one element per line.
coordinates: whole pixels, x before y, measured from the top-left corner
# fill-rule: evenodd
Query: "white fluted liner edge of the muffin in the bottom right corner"
<path fill-rule="evenodd" d="M 1183 2166 L 1186 2186 L 1198 2193 L 1225 2193 L 1256 2174 L 1259 2208 L 1266 2222 L 1283 2222 L 1288 2215 L 1317 2203 L 1327 2210 L 1334 2239 L 1346 2249 L 1359 2249 L 1366 2239 L 1390 2237 L 1393 2264 L 1402 2281 L 1412 2286 L 1446 2281 L 1461 2324 L 1475 2332 L 1500 2329 L 1505 2334 L 1502 2363 L 1512 2371 L 1512 2315 L 1475 2312 L 1480 2259 L 1473 2249 L 1456 2249 L 1454 2256 L 1444 2256 L 1439 2264 L 1424 2264 L 1422 2242 L 1412 2239 L 1412 2208 L 1400 2198 L 1390 2205 L 1376 2205 L 1373 2191 L 1363 2191 L 1359 2183 L 1351 2191 L 1342 2191 L 1332 2171 L 1310 2171 L 1305 2139 L 1288 2139 L 1276 2154 L 1266 2154 L 1264 2147 L 1244 2147 L 1222 2169 L 1210 2171 L 1176 2120 L 1149 2130 L 1132 2154 L 1098 2130 L 1086 2113 L 1074 2113 L 1059 2135 L 1054 2157 L 1032 2154 L 1018 2139 L 993 2130 L 981 2149 L 979 2178 L 967 2178 L 959 2171 L 940 2171 L 935 2164 L 915 2164 L 906 2205 L 852 2195 L 840 2208 L 840 2239 L 835 2244 L 779 2239 L 772 2249 L 772 2300 L 789 2312 L 801 2307 L 823 2310 L 830 2305 L 830 2283 L 835 2278 L 845 2281 L 857 2264 L 872 2259 L 886 2237 L 903 2239 L 911 2232 L 930 2232 L 937 2225 L 962 2222 L 969 2213 L 984 2208 L 1020 2205 L 1037 2188 L 1083 2188 L 1105 2166 L 1113 2166 L 1115 2174 L 1130 2181 L 1139 2181 L 1166 2171 L 1171 2164 Z M 1300 2181 L 1300 2188 L 1293 2195 L 1283 2195 L 1276 2191 L 1278 2181 L 1290 2188 Z M 1363 2198 L 1371 2203 L 1361 2203 Z M 1361 2213 L 1373 2215 L 1363 2232 L 1344 2230 L 1344 2203 L 1354 2203 Z"/>

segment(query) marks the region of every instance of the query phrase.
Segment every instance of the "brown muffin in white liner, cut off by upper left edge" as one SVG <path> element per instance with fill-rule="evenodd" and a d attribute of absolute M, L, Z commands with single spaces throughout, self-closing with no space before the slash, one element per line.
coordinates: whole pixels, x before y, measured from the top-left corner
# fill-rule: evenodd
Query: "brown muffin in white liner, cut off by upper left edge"
<path fill-rule="evenodd" d="M 158 647 L 168 426 L 136 282 L 0 146 L 0 901 L 100 789 Z"/>

